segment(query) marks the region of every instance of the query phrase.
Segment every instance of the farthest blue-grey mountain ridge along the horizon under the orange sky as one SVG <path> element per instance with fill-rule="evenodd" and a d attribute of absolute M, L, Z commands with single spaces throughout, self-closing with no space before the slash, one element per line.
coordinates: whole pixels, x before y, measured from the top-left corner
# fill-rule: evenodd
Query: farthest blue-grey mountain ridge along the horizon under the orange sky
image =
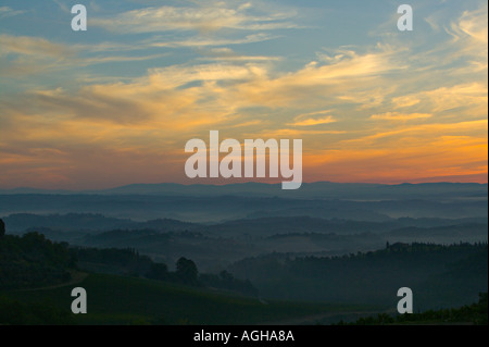
<path fill-rule="evenodd" d="M 228 185 L 183 185 L 175 183 L 130 184 L 98 190 L 63 190 L 13 188 L 0 189 L 0 195 L 52 194 L 52 195 L 161 195 L 161 196 L 263 196 L 291 198 L 387 199 L 402 197 L 426 198 L 456 195 L 484 198 L 488 185 L 479 183 L 422 183 L 422 184 L 366 184 L 366 183 L 304 183 L 298 190 L 283 190 L 280 184 L 242 183 Z"/>

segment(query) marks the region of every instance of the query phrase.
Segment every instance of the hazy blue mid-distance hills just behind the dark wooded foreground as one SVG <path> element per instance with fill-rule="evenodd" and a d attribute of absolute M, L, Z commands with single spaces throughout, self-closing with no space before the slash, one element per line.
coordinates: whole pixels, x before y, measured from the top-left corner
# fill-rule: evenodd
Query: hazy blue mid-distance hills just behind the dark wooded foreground
<path fill-rule="evenodd" d="M 487 241 L 487 219 L 389 219 L 386 222 L 311 216 L 240 219 L 196 224 L 160 219 L 137 222 L 101 214 L 12 214 L 8 233 L 38 232 L 57 241 L 101 248 L 135 248 L 174 263 L 195 259 L 202 269 L 221 271 L 247 257 L 271 252 L 335 256 L 381 248 L 387 241 L 453 244 Z"/>

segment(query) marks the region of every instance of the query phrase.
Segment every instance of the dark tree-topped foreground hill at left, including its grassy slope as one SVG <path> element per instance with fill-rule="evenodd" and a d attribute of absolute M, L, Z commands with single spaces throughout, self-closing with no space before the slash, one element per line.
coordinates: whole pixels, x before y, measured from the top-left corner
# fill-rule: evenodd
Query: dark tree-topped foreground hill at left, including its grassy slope
<path fill-rule="evenodd" d="M 359 310 L 346 305 L 264 301 L 251 284 L 227 272 L 198 276 L 195 263 L 185 258 L 171 272 L 134 250 L 67 246 L 37 233 L 0 238 L 0 325 L 256 324 Z M 123 275 L 79 275 L 90 267 Z M 87 314 L 70 310 L 71 292 L 78 286 L 88 294 Z"/>

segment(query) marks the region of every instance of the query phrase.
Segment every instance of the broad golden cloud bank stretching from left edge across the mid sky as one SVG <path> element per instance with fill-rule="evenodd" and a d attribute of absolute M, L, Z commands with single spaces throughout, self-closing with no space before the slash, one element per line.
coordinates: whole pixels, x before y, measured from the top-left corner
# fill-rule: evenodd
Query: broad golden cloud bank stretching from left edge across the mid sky
<path fill-rule="evenodd" d="M 235 54 L 230 49 L 211 53 Z M 273 134 L 283 129 L 284 124 L 313 127 L 336 122 L 329 111 L 314 109 L 325 103 L 344 104 L 341 99 L 344 95 L 354 99 L 364 90 L 372 94 L 369 84 L 397 69 L 384 51 L 351 53 L 330 64 L 314 62 L 287 74 L 276 73 L 269 62 L 261 61 L 171 65 L 150 69 L 147 76 L 125 83 L 95 80 L 78 89 L 38 88 L 15 98 L 29 102 L 4 100 L 2 109 L 10 110 L 16 124 L 30 129 L 23 135 L 26 138 L 41 136 L 54 142 L 57 138 L 68 141 L 103 138 L 103 142 L 110 144 L 114 137 L 126 134 L 133 138 L 133 146 L 150 146 L 152 141 L 159 142 L 163 134 L 184 140 L 189 134 L 210 127 L 244 124 L 260 128 L 264 122 Z M 252 111 L 255 108 L 259 110 Z M 313 112 L 303 113 L 309 109 Z M 278 111 L 266 119 L 271 110 Z M 300 115 L 285 121 L 279 110 Z M 33 124 L 29 115 L 47 123 Z M 33 124 L 32 127 L 28 124 Z M 38 132 L 40 128 L 49 131 Z M 283 129 L 281 134 L 286 131 L 293 132 Z M 312 131 L 308 134 L 313 134 Z M 76 132 L 76 136 L 64 139 L 65 134 L 72 132 Z M 316 129 L 315 134 L 325 133 Z"/>

